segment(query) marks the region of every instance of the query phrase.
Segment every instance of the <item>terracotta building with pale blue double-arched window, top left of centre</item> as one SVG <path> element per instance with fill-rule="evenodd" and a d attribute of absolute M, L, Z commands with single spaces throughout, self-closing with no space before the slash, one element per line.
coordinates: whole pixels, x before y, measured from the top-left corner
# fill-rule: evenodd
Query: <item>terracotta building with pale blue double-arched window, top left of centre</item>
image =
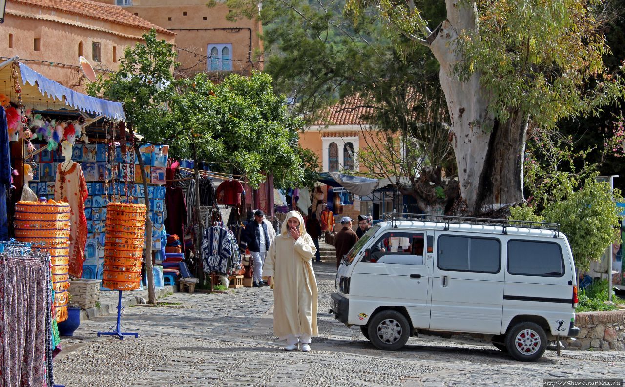
<path fill-rule="evenodd" d="M 98 0 L 123 6 L 135 16 L 176 32 L 179 76 L 209 72 L 251 74 L 262 69 L 256 57 L 262 51 L 261 23 L 246 18 L 229 22 L 229 9 L 207 0 Z"/>

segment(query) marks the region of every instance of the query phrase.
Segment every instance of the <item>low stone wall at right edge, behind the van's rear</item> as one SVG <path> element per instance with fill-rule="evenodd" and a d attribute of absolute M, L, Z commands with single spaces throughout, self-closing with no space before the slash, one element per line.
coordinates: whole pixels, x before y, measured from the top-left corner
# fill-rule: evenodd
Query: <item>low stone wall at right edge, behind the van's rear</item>
<path fill-rule="evenodd" d="M 625 351 L 625 310 L 576 313 L 576 340 L 567 340 L 569 350 Z"/>

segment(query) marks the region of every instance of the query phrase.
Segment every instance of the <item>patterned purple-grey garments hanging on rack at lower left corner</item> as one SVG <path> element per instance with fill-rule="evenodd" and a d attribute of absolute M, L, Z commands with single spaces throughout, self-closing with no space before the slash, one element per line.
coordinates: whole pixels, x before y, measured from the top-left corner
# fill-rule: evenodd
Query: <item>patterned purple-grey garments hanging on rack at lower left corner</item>
<path fill-rule="evenodd" d="M 0 254 L 0 387 L 53 386 L 46 255 Z"/>

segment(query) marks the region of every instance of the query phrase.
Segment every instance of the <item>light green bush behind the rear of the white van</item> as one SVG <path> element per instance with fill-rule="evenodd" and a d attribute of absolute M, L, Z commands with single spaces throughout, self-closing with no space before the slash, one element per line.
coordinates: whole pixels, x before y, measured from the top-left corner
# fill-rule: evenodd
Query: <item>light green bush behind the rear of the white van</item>
<path fill-rule="evenodd" d="M 616 201 L 622 200 L 619 190 L 611 191 L 607 182 L 597 182 L 591 174 L 577 188 L 576 181 L 559 175 L 553 185 L 551 200 L 542 216 L 535 215 L 536 207 L 523 205 L 511 208 L 511 219 L 559 223 L 569 240 L 578 272 L 587 272 L 590 263 L 601 259 L 606 248 L 617 238 L 619 210 Z"/>

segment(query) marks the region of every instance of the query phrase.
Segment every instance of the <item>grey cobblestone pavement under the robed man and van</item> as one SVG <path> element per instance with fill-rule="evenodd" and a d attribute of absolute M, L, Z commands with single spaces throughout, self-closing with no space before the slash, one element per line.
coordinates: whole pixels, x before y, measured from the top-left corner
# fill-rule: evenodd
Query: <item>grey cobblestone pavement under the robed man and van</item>
<path fill-rule="evenodd" d="M 282 350 L 272 335 L 272 291 L 176 293 L 183 307 L 136 306 L 124 311 L 126 330 L 139 338 L 97 338 L 115 316 L 81 323 L 63 338 L 56 383 L 68 387 L 131 386 L 542 386 L 542 378 L 625 376 L 625 354 L 547 351 L 519 363 L 486 343 L 411 338 L 398 352 L 376 350 L 358 328 L 328 315 L 334 262 L 315 263 L 319 336 L 310 353 Z"/>

